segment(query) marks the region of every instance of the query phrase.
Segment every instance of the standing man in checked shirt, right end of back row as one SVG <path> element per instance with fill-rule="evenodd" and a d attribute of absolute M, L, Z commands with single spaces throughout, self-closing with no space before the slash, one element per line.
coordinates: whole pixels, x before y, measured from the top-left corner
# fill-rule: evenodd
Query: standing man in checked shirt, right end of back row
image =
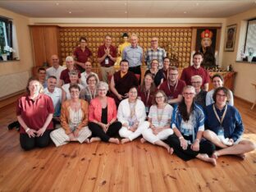
<path fill-rule="evenodd" d="M 153 37 L 151 39 L 151 48 L 148 48 L 146 54 L 145 54 L 145 62 L 150 68 L 150 63 L 153 59 L 157 59 L 159 62 L 158 69 L 162 69 L 163 66 L 163 60 L 167 57 L 167 53 L 163 48 L 158 47 L 158 38 Z"/>

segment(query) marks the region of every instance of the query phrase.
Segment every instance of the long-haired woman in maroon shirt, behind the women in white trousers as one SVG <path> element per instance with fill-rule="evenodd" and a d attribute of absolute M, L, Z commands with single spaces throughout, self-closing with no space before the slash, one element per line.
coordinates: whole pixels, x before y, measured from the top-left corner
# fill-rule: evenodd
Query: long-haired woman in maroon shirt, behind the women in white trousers
<path fill-rule="evenodd" d="M 138 89 L 138 98 L 144 103 L 146 107 L 146 113 L 149 113 L 149 108 L 153 102 L 153 96 L 158 89 L 153 82 L 153 75 L 148 73 L 144 76 L 144 80 L 141 86 Z"/>

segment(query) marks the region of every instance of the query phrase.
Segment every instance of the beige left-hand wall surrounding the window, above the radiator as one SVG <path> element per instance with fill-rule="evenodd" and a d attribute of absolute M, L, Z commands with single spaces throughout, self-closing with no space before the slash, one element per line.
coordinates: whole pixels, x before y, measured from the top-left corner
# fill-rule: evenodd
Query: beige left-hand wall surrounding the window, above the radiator
<path fill-rule="evenodd" d="M 21 16 L 12 11 L 0 8 L 1 16 L 13 19 L 16 30 L 16 39 L 14 43 L 18 45 L 20 61 L 0 62 L 0 75 L 8 75 L 23 71 L 31 71 L 33 64 L 32 47 L 30 40 L 29 18 Z M 15 37 L 14 37 L 15 38 Z"/>

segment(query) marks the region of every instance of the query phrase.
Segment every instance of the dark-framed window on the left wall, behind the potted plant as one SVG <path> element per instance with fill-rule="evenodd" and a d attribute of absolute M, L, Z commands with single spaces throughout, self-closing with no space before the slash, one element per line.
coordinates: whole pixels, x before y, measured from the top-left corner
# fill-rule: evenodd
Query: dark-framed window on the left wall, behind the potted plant
<path fill-rule="evenodd" d="M 6 53 L 5 47 L 12 48 L 12 20 L 0 16 L 0 53 Z M 12 53 L 9 53 L 12 58 Z"/>

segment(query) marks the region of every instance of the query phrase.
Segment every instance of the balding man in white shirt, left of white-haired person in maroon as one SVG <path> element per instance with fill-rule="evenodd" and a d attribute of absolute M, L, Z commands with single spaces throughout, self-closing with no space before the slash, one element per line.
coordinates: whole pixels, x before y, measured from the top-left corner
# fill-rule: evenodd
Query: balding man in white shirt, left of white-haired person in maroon
<path fill-rule="evenodd" d="M 52 55 L 51 57 L 52 66 L 49 67 L 46 70 L 46 79 L 48 79 L 49 76 L 55 76 L 57 78 L 57 85 L 60 81 L 60 76 L 63 70 L 66 69 L 65 66 L 60 66 L 60 60 L 57 55 Z"/>

